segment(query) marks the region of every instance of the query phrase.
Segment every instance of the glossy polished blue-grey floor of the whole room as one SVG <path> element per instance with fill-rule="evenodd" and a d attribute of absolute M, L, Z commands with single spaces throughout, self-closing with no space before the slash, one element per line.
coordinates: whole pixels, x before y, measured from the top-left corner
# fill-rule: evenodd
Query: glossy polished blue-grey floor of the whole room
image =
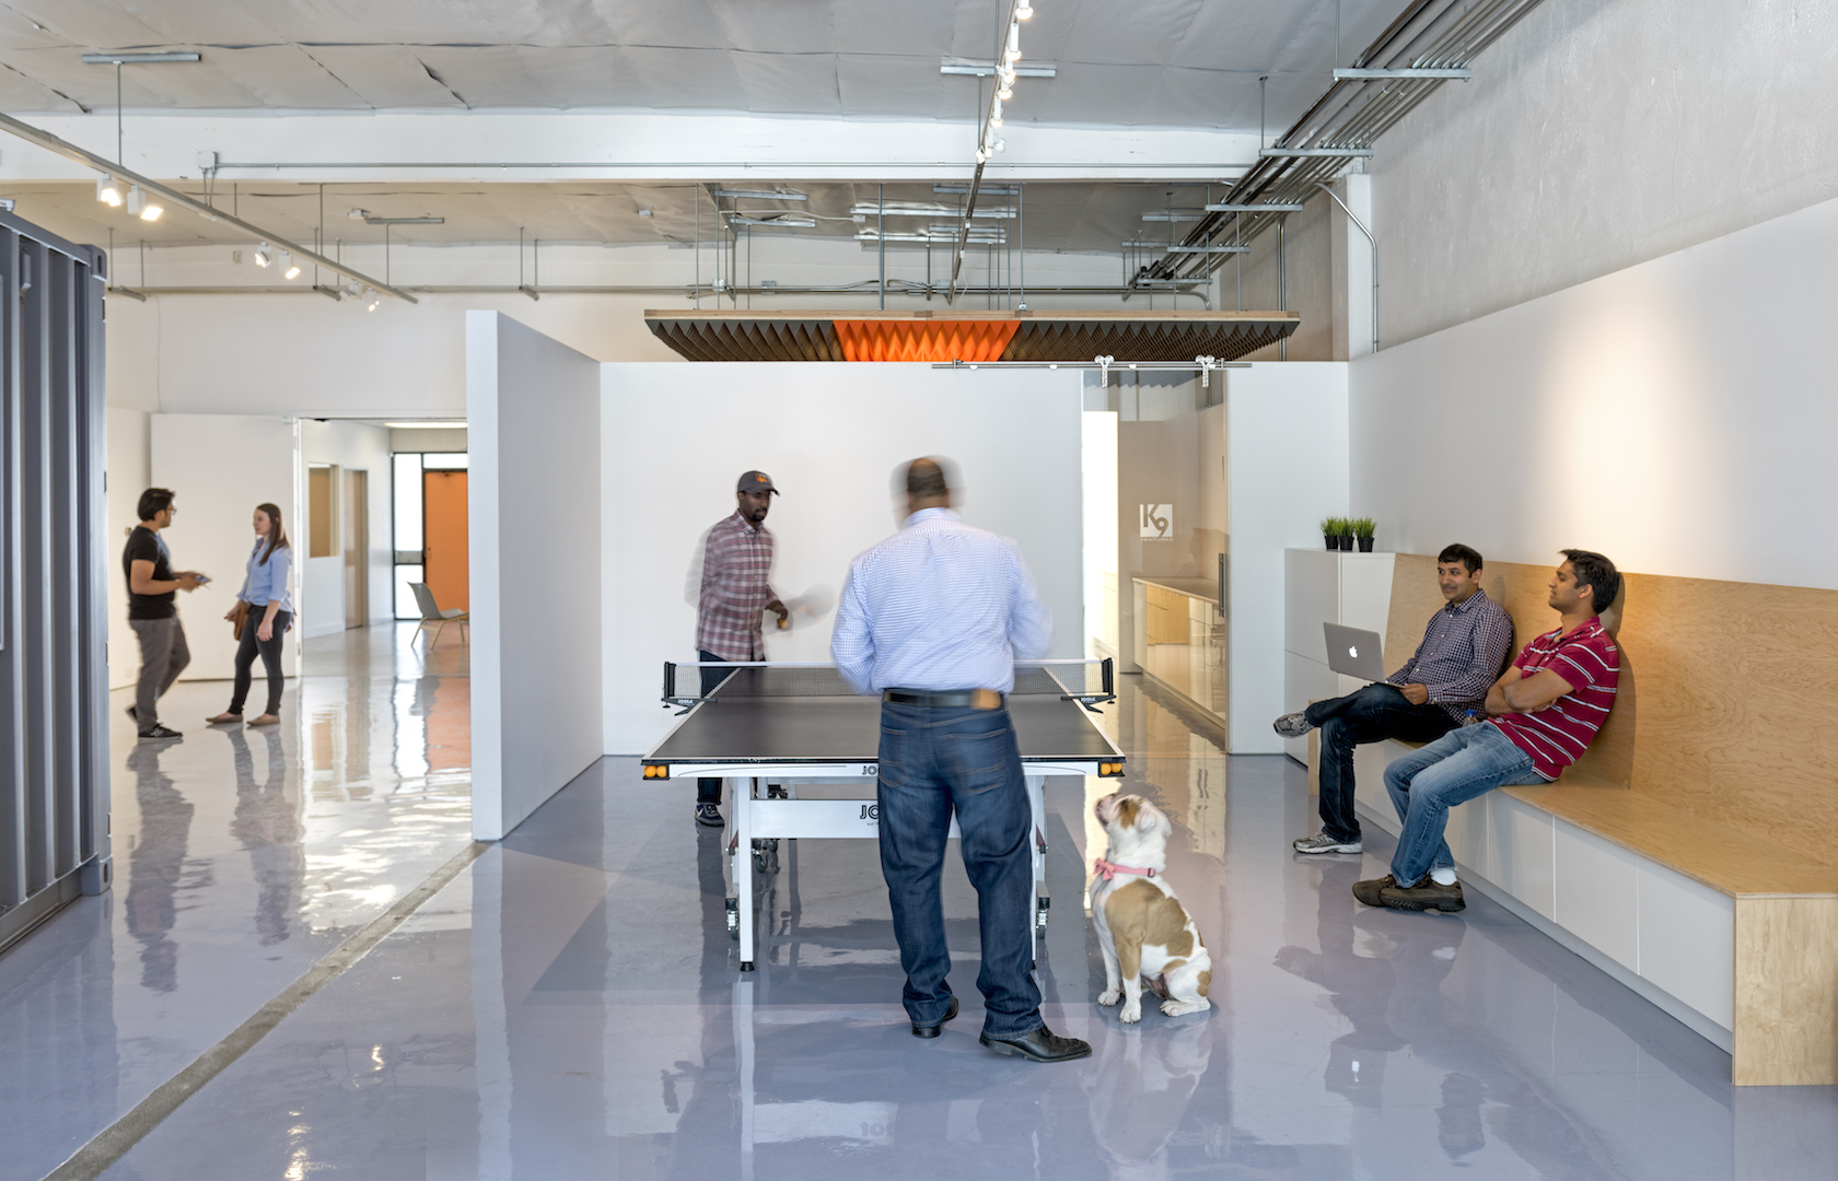
<path fill-rule="evenodd" d="M 388 676 L 344 680 L 379 703 L 346 700 L 338 714 L 371 718 L 368 757 L 327 757 L 331 735 L 322 746 L 303 720 L 278 764 L 263 738 L 244 738 L 244 759 L 224 737 L 199 742 L 217 762 L 162 755 L 160 775 L 127 775 L 160 804 L 142 803 L 136 830 L 162 850 L 142 878 L 158 885 L 136 894 L 123 867 L 112 900 L 66 911 L 22 944 L 28 957 L 0 957 L 0 1177 L 42 1175 L 61 1159 L 53 1141 L 68 1152 L 298 975 L 298 953 L 450 852 L 452 797 L 432 781 L 458 768 L 432 770 L 452 746 L 432 740 L 439 705 L 423 714 L 428 737 L 386 738 L 415 716 L 425 678 L 382 658 Z M 961 871 L 947 915 L 965 1012 L 917 1041 L 871 843 L 779 850 L 759 878 L 759 972 L 743 977 L 719 836 L 689 823 L 689 784 L 608 759 L 107 1175 L 1832 1175 L 1838 1089 L 1733 1089 L 1728 1056 L 1483 898 L 1459 917 L 1360 909 L 1347 887 L 1384 872 L 1388 843 L 1292 854 L 1287 839 L 1312 821 L 1296 764 L 1226 759 L 1134 689 L 1108 724 L 1129 786 L 1178 825 L 1169 882 L 1213 950 L 1209 1014 L 1151 1008 L 1123 1029 L 1094 1003 L 1103 968 L 1077 904 L 1088 803 L 1110 782 L 1048 792 L 1046 1016 L 1097 1056 L 1042 1067 L 976 1043 Z M 346 751 L 358 744 L 349 725 L 329 729 Z M 386 748 L 406 760 L 393 779 L 379 770 Z M 371 768 L 369 803 L 395 812 L 355 819 L 353 766 Z M 265 784 L 279 786 L 261 810 Z M 342 902 L 314 911 L 322 894 Z M 278 948 L 294 959 L 268 961 Z"/>

